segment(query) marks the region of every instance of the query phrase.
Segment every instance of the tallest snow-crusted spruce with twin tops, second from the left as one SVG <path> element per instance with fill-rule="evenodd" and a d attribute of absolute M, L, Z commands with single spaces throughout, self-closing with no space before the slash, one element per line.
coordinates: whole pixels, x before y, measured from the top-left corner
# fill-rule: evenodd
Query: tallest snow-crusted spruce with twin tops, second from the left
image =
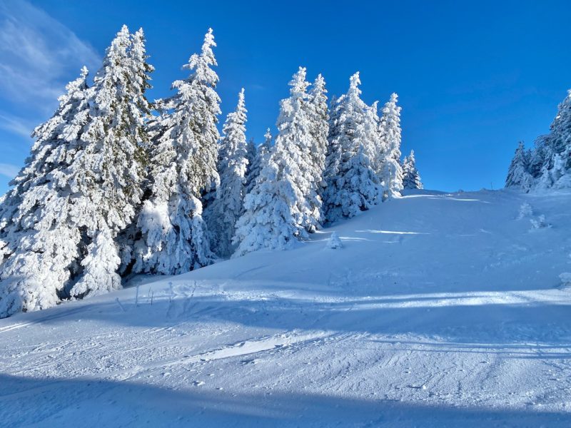
<path fill-rule="evenodd" d="M 72 297 L 121 287 L 115 240 L 135 218 L 148 161 L 144 121 L 151 106 L 145 91 L 153 68 L 146 61 L 143 31 L 131 37 L 123 26 L 94 78 L 90 118 L 81 136 L 84 150 L 69 168 L 71 191 L 82 195 L 70 215 L 86 245 Z"/>

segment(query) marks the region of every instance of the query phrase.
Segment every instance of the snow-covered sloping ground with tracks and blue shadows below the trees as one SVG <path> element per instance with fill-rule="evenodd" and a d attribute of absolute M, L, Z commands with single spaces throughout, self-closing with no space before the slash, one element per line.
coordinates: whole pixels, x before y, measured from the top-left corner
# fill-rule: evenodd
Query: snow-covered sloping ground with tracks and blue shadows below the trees
<path fill-rule="evenodd" d="M 0 320 L 0 426 L 570 427 L 570 255 L 571 193 L 392 200 Z"/>

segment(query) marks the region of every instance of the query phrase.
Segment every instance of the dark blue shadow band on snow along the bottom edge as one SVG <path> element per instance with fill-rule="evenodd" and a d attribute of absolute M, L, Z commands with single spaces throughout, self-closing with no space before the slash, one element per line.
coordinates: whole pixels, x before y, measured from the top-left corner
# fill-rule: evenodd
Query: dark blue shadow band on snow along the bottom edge
<path fill-rule="evenodd" d="M 326 394 L 165 389 L 98 379 L 0 375 L 0 426 L 23 427 L 568 427 L 562 412 L 430 406 Z"/>

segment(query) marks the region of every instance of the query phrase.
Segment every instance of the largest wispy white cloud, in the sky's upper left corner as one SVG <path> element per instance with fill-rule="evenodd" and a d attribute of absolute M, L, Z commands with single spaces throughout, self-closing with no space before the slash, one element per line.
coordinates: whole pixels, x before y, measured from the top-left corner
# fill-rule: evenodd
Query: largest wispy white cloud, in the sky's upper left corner
<path fill-rule="evenodd" d="M 98 54 L 45 11 L 24 0 L 0 1 L 0 96 L 11 102 L 56 105 L 81 66 Z"/>

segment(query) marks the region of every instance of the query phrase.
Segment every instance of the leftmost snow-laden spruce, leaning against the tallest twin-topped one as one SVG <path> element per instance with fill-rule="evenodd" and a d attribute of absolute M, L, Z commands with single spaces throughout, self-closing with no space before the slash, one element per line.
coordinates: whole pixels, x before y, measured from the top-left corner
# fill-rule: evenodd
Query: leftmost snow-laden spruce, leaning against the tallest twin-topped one
<path fill-rule="evenodd" d="M 68 168 L 83 148 L 86 76 L 84 67 L 54 116 L 34 130 L 31 154 L 1 205 L 0 318 L 56 305 L 79 270 L 81 233 L 69 215 L 78 196 Z"/>

